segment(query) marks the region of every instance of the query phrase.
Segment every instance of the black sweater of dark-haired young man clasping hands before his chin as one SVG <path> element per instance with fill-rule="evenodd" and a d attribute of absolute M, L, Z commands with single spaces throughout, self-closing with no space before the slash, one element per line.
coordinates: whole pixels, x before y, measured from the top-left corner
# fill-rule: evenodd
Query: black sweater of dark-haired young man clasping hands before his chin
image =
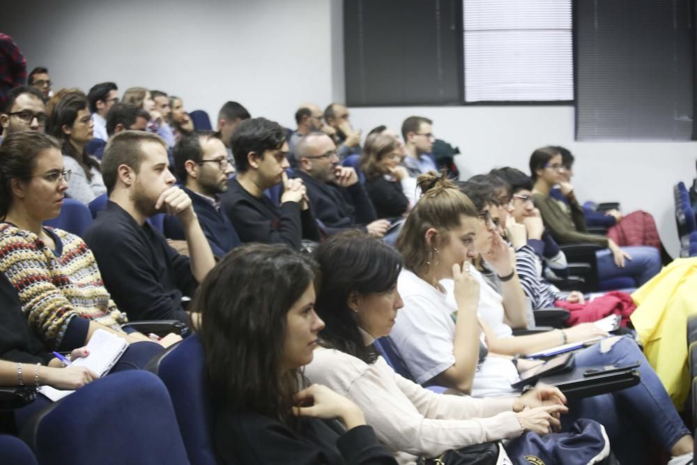
<path fill-rule="evenodd" d="M 320 240 L 312 212 L 309 208 L 302 211 L 298 202 L 285 202 L 278 207 L 266 195 L 254 197 L 236 178 L 230 181 L 220 201 L 243 243 L 283 243 L 300 250 L 302 239 Z"/>

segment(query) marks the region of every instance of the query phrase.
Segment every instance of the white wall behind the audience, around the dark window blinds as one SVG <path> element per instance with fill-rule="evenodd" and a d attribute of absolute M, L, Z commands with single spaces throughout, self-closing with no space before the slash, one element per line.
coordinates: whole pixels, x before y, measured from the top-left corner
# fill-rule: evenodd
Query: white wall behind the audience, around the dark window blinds
<path fill-rule="evenodd" d="M 0 31 L 15 38 L 29 68 L 51 70 L 54 89 L 146 86 L 214 118 L 224 101 L 238 100 L 288 127 L 298 103 L 323 107 L 344 95 L 342 0 L 5 3 Z M 364 134 L 379 124 L 399 130 L 412 114 L 434 119 L 436 135 L 459 146 L 465 177 L 494 166 L 527 171 L 535 148 L 567 146 L 581 199 L 649 211 L 677 255 L 672 186 L 694 178 L 695 143 L 575 142 L 572 107 L 351 109 Z"/>

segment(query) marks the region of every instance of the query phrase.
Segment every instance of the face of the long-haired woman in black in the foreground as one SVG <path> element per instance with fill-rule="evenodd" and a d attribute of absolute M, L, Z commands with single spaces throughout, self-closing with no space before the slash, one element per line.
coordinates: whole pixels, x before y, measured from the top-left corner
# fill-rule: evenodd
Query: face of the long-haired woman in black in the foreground
<path fill-rule="evenodd" d="M 324 322 L 314 312 L 314 301 L 311 283 L 286 314 L 283 369 L 298 369 L 312 362 L 312 351 L 319 344 L 319 332 L 324 328 Z"/>

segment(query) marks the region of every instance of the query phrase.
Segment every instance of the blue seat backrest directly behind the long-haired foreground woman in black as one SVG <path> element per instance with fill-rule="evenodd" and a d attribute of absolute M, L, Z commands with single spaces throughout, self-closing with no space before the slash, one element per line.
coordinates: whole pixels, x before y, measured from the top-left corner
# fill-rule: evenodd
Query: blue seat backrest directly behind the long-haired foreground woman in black
<path fill-rule="evenodd" d="M 158 363 L 192 465 L 215 465 L 213 420 L 204 381 L 204 347 L 198 335 L 183 340 Z"/>

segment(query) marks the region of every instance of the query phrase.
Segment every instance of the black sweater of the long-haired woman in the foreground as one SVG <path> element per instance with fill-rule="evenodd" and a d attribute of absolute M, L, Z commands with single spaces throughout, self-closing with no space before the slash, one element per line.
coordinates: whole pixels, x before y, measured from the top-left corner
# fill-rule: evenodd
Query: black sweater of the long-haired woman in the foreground
<path fill-rule="evenodd" d="M 396 465 L 372 427 L 340 435 L 322 420 L 302 418 L 302 433 L 259 413 L 221 413 L 213 443 L 224 465 Z"/>

